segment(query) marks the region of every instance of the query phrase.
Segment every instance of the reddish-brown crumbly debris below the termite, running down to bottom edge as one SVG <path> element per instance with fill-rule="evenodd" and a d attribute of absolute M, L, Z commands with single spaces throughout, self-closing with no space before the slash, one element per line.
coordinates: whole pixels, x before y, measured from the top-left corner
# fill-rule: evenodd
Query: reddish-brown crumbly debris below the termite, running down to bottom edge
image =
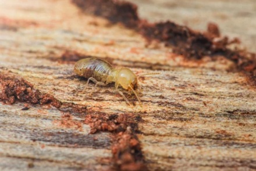
<path fill-rule="evenodd" d="M 108 115 L 95 113 L 86 116 L 84 123 L 89 124 L 91 133 L 111 131 L 113 163 L 116 170 L 147 170 L 140 142 L 135 134 L 139 116 L 131 113 Z"/>

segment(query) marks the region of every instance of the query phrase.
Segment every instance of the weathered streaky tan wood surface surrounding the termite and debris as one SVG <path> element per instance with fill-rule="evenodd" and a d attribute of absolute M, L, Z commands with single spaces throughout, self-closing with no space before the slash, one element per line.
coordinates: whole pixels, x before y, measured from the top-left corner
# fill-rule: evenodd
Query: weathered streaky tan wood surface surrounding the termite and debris
<path fill-rule="evenodd" d="M 175 19 L 173 10 L 165 5 L 157 9 L 152 5 L 158 11 L 154 15 L 145 1 L 136 2 L 144 18 L 158 20 L 164 12 L 166 18 L 179 23 L 187 20 L 184 11 L 196 8 L 201 12 L 208 4 L 175 3 L 179 16 Z M 219 10 L 226 3 L 207 6 Z M 227 15 L 225 21 L 234 24 L 218 24 L 223 33 L 239 36 L 255 52 L 255 30 L 250 29 L 255 28 L 255 10 L 246 9 L 248 4 L 255 9 L 255 2 L 240 3 L 250 13 L 239 18 L 243 23 L 237 24 L 235 15 Z M 232 14 L 241 12 L 239 7 L 230 10 Z M 208 13 L 207 19 L 198 20 L 205 24 L 215 17 Z M 197 22 L 189 21 L 190 25 L 197 26 Z M 141 116 L 137 136 L 150 170 L 256 169 L 255 87 L 250 87 L 243 74 L 226 72 L 232 62 L 225 59 L 187 61 L 161 44 L 145 48 L 146 44 L 134 31 L 84 15 L 67 0 L 0 1 L 1 73 L 23 77 L 41 92 L 61 102 L 87 106 L 88 111 Z M 142 107 L 127 106 L 111 85 L 88 97 L 82 92 L 86 81 L 74 77 L 73 63 L 61 61 L 66 51 L 111 59 L 113 65 L 130 67 L 137 74 L 161 74 L 140 79 Z M 129 99 L 136 101 L 133 96 Z M 87 124 L 79 128 L 61 124 L 65 111 L 41 105 L 22 111 L 23 105 L 0 103 L 0 170 L 111 169 L 111 133 L 89 134 Z M 74 123 L 83 123 L 86 117 L 70 113 Z"/>

